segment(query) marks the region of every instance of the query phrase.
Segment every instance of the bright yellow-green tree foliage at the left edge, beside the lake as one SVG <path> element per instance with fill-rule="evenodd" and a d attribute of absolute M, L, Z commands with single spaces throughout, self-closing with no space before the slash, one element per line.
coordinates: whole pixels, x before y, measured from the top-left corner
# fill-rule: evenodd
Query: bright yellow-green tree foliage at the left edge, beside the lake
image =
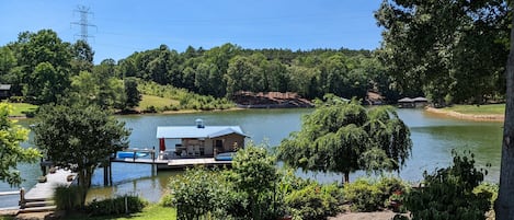
<path fill-rule="evenodd" d="M 20 146 L 28 139 L 28 130 L 9 118 L 11 112 L 11 105 L 0 103 L 0 181 L 18 186 L 22 183 L 18 163 L 35 162 L 41 153 L 37 149 Z"/>

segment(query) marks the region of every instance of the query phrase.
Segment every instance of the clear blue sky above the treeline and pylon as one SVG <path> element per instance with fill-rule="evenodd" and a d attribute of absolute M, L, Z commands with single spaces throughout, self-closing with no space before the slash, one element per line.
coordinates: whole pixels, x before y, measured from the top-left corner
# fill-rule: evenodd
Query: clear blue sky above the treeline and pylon
<path fill-rule="evenodd" d="M 179 53 L 226 43 L 242 48 L 376 49 L 381 0 L 0 0 L 0 46 L 21 32 L 80 39 L 79 5 L 89 9 L 94 62 L 168 45 Z"/>

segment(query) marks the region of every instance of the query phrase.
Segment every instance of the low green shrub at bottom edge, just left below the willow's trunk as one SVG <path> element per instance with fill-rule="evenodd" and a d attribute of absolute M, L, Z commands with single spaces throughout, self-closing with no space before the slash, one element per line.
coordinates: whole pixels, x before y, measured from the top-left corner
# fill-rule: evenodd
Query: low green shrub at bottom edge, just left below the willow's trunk
<path fill-rule="evenodd" d="M 288 212 L 293 213 L 293 218 L 321 220 L 341 211 L 342 195 L 342 190 L 336 184 L 310 183 L 300 189 L 293 190 L 284 200 Z"/>

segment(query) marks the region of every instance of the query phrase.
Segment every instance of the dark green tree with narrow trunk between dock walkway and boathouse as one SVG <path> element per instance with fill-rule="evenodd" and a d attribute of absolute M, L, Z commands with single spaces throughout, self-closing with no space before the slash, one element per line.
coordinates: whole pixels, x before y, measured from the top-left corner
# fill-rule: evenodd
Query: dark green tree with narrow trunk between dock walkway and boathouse
<path fill-rule="evenodd" d="M 98 106 L 42 106 L 34 127 L 34 142 L 46 157 L 78 173 L 79 187 L 91 186 L 94 169 L 127 147 L 130 131 Z"/>

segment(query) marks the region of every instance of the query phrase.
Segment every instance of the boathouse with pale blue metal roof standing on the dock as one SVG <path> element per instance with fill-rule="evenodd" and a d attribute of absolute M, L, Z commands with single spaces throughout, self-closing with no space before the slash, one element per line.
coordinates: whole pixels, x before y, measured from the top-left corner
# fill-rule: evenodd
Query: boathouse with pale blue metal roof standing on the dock
<path fill-rule="evenodd" d="M 196 126 L 157 127 L 162 159 L 213 158 L 244 148 L 245 137 L 239 126 L 205 126 L 202 119 L 196 119 Z M 170 142 L 174 142 L 171 148 Z"/>

